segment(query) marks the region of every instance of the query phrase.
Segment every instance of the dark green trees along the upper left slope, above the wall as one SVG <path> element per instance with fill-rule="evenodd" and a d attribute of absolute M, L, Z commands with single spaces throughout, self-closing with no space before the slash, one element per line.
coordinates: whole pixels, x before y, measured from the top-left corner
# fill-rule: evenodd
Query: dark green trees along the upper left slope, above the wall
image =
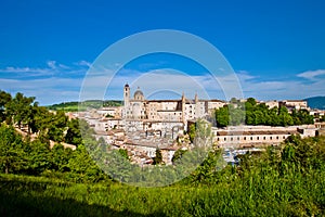
<path fill-rule="evenodd" d="M 63 111 L 39 106 L 34 97 L 0 91 L 0 123 L 26 129 L 42 140 L 82 144 L 78 119 L 68 119 Z"/>

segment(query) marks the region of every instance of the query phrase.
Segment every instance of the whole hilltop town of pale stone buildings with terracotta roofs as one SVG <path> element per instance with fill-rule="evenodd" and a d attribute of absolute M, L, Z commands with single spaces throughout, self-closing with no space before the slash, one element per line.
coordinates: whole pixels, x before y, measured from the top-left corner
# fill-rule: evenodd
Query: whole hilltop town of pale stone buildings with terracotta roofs
<path fill-rule="evenodd" d="M 245 103 L 246 100 L 237 100 Z M 166 164 L 172 164 L 177 150 L 187 150 L 191 141 L 191 126 L 198 119 L 211 125 L 214 145 L 225 149 L 249 149 L 278 145 L 290 135 L 315 137 L 324 133 L 324 111 L 311 110 L 307 101 L 284 100 L 257 102 L 270 110 L 285 107 L 288 113 L 306 111 L 313 122 L 292 126 L 225 126 L 218 127 L 216 110 L 232 104 L 222 100 L 203 100 L 195 94 L 187 99 L 183 93 L 179 100 L 146 100 L 143 91 L 131 92 L 128 84 L 123 87 L 123 105 L 92 108 L 70 113 L 72 117 L 86 119 L 94 129 L 95 137 L 103 138 L 112 149 L 127 150 L 131 161 L 138 164 L 152 164 L 156 150 Z M 192 127 L 193 129 L 193 127 Z"/>

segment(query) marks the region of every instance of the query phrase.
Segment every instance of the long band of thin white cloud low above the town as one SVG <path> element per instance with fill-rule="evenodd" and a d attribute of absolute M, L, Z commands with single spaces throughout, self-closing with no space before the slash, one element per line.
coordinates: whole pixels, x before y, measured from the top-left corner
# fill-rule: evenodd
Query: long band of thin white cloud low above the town
<path fill-rule="evenodd" d="M 87 67 L 84 67 L 87 66 Z M 198 93 L 200 99 L 230 99 L 253 97 L 258 100 L 303 99 L 325 93 L 325 69 L 308 71 L 297 75 L 299 78 L 286 80 L 262 79 L 249 72 L 238 71 L 235 75 L 211 76 L 210 74 L 187 75 L 176 69 L 156 69 L 139 72 L 121 69 L 114 75 L 118 66 L 109 68 L 91 67 L 87 61 L 66 66 L 56 61 L 47 62 L 47 67 L 5 67 L 0 68 L 0 88 L 9 92 L 21 91 L 35 95 L 41 104 L 60 101 L 79 100 L 80 89 L 83 99 L 122 99 L 122 88 L 128 82 L 132 93 L 140 86 L 146 97 L 181 95 L 187 98 Z M 1 76 L 1 74 L 0 74 Z M 308 79 L 310 82 L 307 82 Z M 110 81 L 110 82 L 109 82 Z M 243 94 L 244 92 L 244 94 Z"/>

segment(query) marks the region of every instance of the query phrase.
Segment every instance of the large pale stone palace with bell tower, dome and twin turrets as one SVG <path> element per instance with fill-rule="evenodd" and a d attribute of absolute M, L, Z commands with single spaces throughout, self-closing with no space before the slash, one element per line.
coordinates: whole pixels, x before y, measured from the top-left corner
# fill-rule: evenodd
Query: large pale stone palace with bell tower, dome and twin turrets
<path fill-rule="evenodd" d="M 226 104 L 221 100 L 199 100 L 197 94 L 194 100 L 190 100 L 184 93 L 180 100 L 146 100 L 139 87 L 133 98 L 131 95 L 130 86 L 127 84 L 123 88 L 125 105 L 121 112 L 126 122 L 180 123 L 183 129 L 186 128 L 187 120 L 205 118 Z"/>

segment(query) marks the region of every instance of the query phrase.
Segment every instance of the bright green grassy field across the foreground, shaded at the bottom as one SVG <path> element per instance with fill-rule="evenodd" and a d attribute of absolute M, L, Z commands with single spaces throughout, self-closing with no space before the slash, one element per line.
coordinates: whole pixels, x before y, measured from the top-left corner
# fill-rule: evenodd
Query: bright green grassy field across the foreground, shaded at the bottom
<path fill-rule="evenodd" d="M 324 216 L 325 175 L 136 188 L 0 176 L 1 216 Z"/>

